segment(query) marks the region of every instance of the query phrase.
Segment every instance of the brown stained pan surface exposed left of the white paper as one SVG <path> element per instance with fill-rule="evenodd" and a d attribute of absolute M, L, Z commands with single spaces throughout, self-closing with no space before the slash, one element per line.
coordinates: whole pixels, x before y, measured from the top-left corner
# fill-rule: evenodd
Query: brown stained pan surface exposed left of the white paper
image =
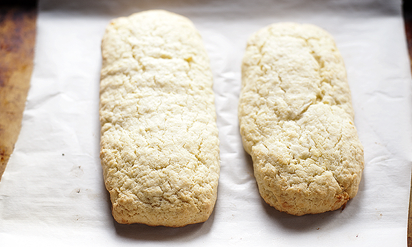
<path fill-rule="evenodd" d="M 33 70 L 36 16 L 36 4 L 0 5 L 0 179 L 21 129 Z"/>

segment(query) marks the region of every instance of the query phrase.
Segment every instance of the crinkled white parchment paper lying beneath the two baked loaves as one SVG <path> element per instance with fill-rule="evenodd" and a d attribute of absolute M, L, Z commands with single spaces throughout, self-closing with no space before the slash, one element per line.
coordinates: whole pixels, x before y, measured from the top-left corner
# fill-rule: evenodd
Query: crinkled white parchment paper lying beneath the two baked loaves
<path fill-rule="evenodd" d="M 0 182 L 8 246 L 406 246 L 411 177 L 411 71 L 400 1 L 40 1 L 32 86 Z M 117 224 L 99 159 L 100 42 L 117 16 L 165 9 L 192 19 L 211 59 L 220 137 L 218 200 L 183 228 Z M 330 32 L 347 67 L 365 148 L 358 195 L 341 211 L 280 213 L 258 193 L 238 131 L 246 40 L 279 21 Z"/>

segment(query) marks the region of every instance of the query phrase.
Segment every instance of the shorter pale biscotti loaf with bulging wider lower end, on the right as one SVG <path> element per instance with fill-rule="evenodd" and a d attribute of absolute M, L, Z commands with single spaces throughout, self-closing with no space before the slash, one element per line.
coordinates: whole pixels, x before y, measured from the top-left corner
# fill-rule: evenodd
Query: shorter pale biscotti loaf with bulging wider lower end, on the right
<path fill-rule="evenodd" d="M 293 215 L 339 209 L 364 167 L 345 66 L 319 27 L 275 23 L 242 63 L 240 133 L 264 200 Z"/>

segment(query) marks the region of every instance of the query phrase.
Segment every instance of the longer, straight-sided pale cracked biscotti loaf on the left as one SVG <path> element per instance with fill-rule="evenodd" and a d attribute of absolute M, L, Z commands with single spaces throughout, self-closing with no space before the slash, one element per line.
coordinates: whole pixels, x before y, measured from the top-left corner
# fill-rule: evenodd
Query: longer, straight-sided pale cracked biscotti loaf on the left
<path fill-rule="evenodd" d="M 214 209 L 212 75 L 193 23 L 163 10 L 114 19 L 102 38 L 100 158 L 119 223 L 185 226 Z"/>

